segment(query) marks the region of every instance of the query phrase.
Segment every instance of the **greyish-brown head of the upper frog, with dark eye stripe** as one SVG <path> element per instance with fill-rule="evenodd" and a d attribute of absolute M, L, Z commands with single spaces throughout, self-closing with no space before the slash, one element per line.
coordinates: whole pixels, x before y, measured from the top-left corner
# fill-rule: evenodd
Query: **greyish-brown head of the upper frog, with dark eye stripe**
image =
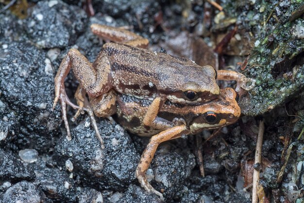
<path fill-rule="evenodd" d="M 220 88 L 216 83 L 217 72 L 214 68 L 211 66 L 197 68 L 196 66 L 193 69 L 187 69 L 186 73 L 180 81 L 176 82 L 176 90 L 167 96 L 171 102 L 199 105 L 219 96 Z"/>

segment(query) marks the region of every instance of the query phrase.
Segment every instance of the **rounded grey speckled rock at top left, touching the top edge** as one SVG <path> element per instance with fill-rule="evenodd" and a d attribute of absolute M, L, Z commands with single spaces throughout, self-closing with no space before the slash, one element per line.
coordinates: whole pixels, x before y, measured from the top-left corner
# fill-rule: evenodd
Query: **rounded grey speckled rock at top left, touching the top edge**
<path fill-rule="evenodd" d="M 84 10 L 61 0 L 39 1 L 30 13 L 24 29 L 41 48 L 64 48 L 73 44 L 87 22 Z"/>

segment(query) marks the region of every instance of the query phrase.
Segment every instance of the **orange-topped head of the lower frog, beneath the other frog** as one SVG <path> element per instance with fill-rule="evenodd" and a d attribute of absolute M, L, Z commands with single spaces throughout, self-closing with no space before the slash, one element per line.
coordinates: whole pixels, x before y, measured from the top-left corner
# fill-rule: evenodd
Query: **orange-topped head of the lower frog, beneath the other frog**
<path fill-rule="evenodd" d="M 231 88 L 220 90 L 213 101 L 198 106 L 197 117 L 190 124 L 192 134 L 203 129 L 215 129 L 235 123 L 241 114 L 237 104 L 237 94 Z"/>

